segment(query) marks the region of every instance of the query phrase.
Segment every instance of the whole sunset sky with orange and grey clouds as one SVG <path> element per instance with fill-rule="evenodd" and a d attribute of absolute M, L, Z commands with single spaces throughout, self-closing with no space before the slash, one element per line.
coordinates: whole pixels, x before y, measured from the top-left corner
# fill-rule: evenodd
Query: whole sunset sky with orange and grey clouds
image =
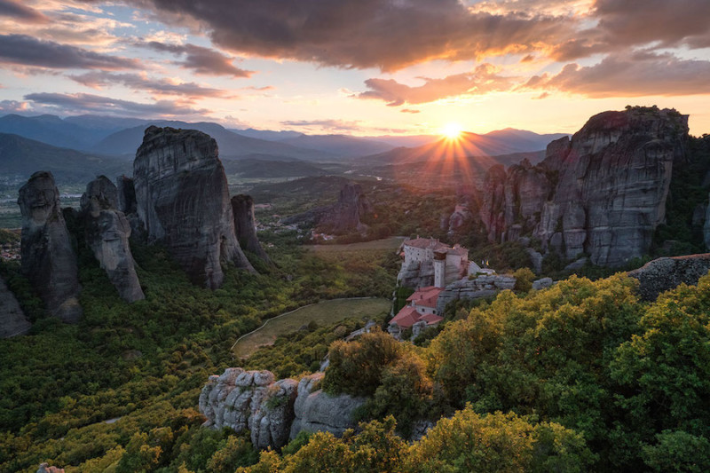
<path fill-rule="evenodd" d="M 708 0 L 0 0 L 0 114 L 553 133 L 657 105 L 699 136 L 708 77 Z"/>

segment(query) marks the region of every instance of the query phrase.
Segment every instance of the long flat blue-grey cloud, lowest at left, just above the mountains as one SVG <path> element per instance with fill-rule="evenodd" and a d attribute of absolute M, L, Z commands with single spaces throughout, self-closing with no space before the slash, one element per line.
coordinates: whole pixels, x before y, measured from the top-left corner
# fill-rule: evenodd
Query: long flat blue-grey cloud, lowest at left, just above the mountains
<path fill-rule="evenodd" d="M 31 93 L 25 96 L 40 106 L 51 106 L 58 113 L 67 114 L 108 114 L 121 116 L 185 116 L 202 115 L 209 111 L 194 109 L 189 102 L 158 100 L 151 104 L 111 99 L 85 93 Z"/>

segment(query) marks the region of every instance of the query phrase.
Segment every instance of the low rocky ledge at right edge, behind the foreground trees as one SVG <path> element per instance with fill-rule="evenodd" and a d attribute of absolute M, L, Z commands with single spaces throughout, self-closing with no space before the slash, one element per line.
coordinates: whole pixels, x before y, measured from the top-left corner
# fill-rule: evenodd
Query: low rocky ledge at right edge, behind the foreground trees
<path fill-rule="evenodd" d="M 638 293 L 646 301 L 655 301 L 662 292 L 682 282 L 690 286 L 710 271 L 710 253 L 654 259 L 641 268 L 628 272 L 639 281 Z"/>

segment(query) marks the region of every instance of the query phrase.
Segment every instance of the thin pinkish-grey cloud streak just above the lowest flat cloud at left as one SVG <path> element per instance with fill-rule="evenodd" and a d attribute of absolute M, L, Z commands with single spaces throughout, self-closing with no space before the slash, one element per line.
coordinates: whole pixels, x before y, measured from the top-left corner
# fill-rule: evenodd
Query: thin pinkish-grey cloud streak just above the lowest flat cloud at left
<path fill-rule="evenodd" d="M 198 83 L 171 83 L 167 79 L 154 79 L 138 74 L 115 74 L 105 71 L 91 71 L 83 75 L 69 75 L 77 83 L 89 87 L 103 87 L 122 84 L 137 91 L 149 91 L 161 95 L 182 95 L 191 99 L 201 97 L 224 97 L 227 92 Z"/>

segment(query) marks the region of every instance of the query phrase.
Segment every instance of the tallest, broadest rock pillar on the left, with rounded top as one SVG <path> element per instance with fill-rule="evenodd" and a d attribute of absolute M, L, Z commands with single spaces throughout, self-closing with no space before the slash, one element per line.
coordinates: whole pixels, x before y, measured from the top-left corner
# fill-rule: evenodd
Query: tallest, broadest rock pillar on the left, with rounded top
<path fill-rule="evenodd" d="M 217 142 L 197 130 L 149 127 L 133 162 L 138 217 L 195 284 L 219 288 L 221 263 L 254 269 L 234 233 Z"/>

